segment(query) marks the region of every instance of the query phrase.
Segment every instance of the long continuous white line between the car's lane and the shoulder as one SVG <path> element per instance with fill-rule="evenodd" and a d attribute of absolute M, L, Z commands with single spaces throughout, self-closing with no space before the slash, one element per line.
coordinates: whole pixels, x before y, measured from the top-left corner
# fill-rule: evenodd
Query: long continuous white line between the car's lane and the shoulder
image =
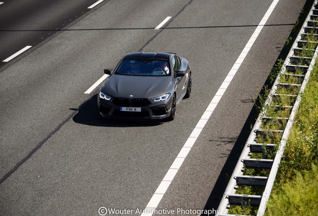
<path fill-rule="evenodd" d="M 196 126 L 194 127 L 192 133 L 184 143 L 183 147 L 181 148 L 179 154 L 176 156 L 175 160 L 173 161 L 172 165 L 166 172 L 165 176 L 163 177 L 161 183 L 159 184 L 158 188 L 155 190 L 154 194 L 150 198 L 150 201 L 146 205 L 143 213 L 141 216 L 145 215 L 152 215 L 155 211 L 156 207 L 158 206 L 159 202 L 161 201 L 165 191 L 168 189 L 171 181 L 173 180 L 174 176 L 176 175 L 177 171 L 181 167 L 186 155 L 191 150 L 196 138 L 201 133 L 205 123 L 207 122 L 208 118 L 211 116 L 213 110 L 215 109 L 218 101 L 221 99 L 223 93 L 225 92 L 227 86 L 231 82 L 232 78 L 234 77 L 236 71 L 238 70 L 239 66 L 243 62 L 246 54 L 248 53 L 250 47 L 253 45 L 255 39 L 257 38 L 258 34 L 260 33 L 261 29 L 263 28 L 265 22 L 267 21 L 269 15 L 273 11 L 274 7 L 276 6 L 278 0 L 274 0 L 271 5 L 269 6 L 267 12 L 261 19 L 260 23 L 256 27 L 254 33 L 248 40 L 247 44 L 245 45 L 244 49 L 242 50 L 241 54 L 238 56 L 236 62 L 228 72 L 227 76 L 225 77 L 223 83 L 219 87 L 218 91 L 212 98 L 210 104 L 205 109 L 203 115 L 201 116 L 200 120 L 197 122 Z"/>

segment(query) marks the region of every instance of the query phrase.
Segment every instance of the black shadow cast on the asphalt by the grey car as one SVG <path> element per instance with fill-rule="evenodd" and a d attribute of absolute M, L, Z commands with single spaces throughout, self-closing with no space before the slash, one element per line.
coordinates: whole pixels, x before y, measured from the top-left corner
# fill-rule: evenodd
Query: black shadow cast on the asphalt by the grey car
<path fill-rule="evenodd" d="M 77 110 L 70 108 L 71 110 Z M 78 112 L 73 116 L 73 121 L 80 124 L 104 127 L 138 127 L 138 126 L 156 126 L 162 124 L 166 120 L 161 121 L 127 121 L 127 120 L 111 120 L 103 119 L 98 114 L 97 94 L 85 101 L 79 108 Z"/>

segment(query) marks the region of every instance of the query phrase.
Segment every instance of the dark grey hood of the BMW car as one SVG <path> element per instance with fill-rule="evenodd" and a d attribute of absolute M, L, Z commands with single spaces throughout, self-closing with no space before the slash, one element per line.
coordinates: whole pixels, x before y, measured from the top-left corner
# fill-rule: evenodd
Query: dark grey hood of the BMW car
<path fill-rule="evenodd" d="M 100 90 L 111 97 L 153 98 L 167 93 L 171 76 L 132 76 L 112 74 Z"/>

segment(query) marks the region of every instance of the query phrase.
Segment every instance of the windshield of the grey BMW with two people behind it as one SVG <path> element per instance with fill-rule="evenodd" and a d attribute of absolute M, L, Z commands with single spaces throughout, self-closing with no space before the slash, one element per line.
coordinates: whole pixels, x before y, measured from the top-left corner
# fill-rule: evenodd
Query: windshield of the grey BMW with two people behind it
<path fill-rule="evenodd" d="M 116 74 L 125 75 L 148 75 L 164 76 L 170 75 L 168 61 L 164 60 L 135 60 L 128 59 L 121 62 L 115 72 Z"/>

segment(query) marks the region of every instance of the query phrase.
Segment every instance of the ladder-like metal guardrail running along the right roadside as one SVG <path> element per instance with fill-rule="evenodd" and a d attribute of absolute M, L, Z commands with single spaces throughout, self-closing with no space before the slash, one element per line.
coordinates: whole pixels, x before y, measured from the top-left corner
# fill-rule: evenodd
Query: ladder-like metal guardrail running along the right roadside
<path fill-rule="evenodd" d="M 317 42 L 309 41 L 308 39 L 310 35 L 314 35 L 316 37 L 318 36 L 318 21 L 316 21 L 316 19 L 318 19 L 318 4 L 317 0 L 314 0 L 311 10 L 306 17 L 300 32 L 292 44 L 285 61 L 283 62 L 280 73 L 278 74 L 271 90 L 269 91 L 268 97 L 264 102 L 263 110 L 258 115 L 252 131 L 248 136 L 248 139 L 245 143 L 242 153 L 240 154 L 221 202 L 218 206 L 218 216 L 232 215 L 227 214 L 231 205 L 246 204 L 258 206 L 257 216 L 262 216 L 265 213 L 266 204 L 276 177 L 286 140 L 293 124 L 294 115 L 299 107 L 301 94 L 309 79 L 312 66 L 314 65 L 315 58 L 317 56 Z M 309 49 L 308 43 L 314 44 L 315 48 Z M 311 51 L 312 55 L 300 56 L 299 53 L 303 53 L 302 51 Z M 296 81 L 293 82 L 290 80 Z M 298 89 L 298 92 L 292 94 L 280 93 L 281 88 Z M 290 103 L 281 103 L 282 98 L 290 101 Z M 280 104 L 277 103 L 277 101 L 280 101 Z M 275 108 L 277 112 L 270 114 L 268 110 L 273 108 Z M 289 110 L 289 113 L 287 112 L 289 116 L 282 116 L 282 113 L 285 112 L 281 112 L 281 110 Z M 272 120 L 282 122 L 282 125 L 285 125 L 284 128 L 268 128 L 267 125 L 270 125 L 268 122 Z M 270 138 L 273 135 L 278 135 L 278 137 L 281 137 L 278 143 L 258 143 L 262 138 L 273 140 Z M 275 149 L 277 151 L 274 159 L 267 159 L 265 152 L 274 152 Z M 256 156 L 259 156 L 260 153 L 261 158 L 254 158 L 255 154 Z M 244 175 L 244 172 L 250 168 L 270 169 L 270 172 L 268 176 Z M 262 195 L 236 194 L 238 186 L 264 187 L 264 191 L 262 192 Z"/>

